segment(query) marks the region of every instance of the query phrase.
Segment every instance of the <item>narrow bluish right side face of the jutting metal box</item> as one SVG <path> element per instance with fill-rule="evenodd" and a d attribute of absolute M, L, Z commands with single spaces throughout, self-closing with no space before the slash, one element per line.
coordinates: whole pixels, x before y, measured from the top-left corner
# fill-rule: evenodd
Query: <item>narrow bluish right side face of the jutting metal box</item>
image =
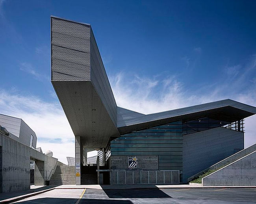
<path fill-rule="evenodd" d="M 108 111 L 115 126 L 117 125 L 117 104 L 109 84 L 100 52 L 91 30 L 91 81 Z"/>

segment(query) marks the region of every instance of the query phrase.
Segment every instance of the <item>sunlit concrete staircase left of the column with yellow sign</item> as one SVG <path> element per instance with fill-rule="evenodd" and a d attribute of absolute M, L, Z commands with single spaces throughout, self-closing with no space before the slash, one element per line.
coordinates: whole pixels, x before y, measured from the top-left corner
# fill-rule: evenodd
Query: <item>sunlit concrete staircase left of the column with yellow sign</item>
<path fill-rule="evenodd" d="M 76 174 L 74 166 L 67 166 L 58 163 L 56 171 L 52 175 L 50 185 L 76 184 Z"/>

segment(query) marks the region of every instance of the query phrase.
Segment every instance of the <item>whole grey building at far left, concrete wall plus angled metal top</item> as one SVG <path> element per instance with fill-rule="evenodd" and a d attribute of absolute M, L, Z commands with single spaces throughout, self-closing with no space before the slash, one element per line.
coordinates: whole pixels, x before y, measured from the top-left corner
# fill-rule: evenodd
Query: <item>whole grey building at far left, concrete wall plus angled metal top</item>
<path fill-rule="evenodd" d="M 30 189 L 30 163 L 34 184 L 45 185 L 58 159 L 36 148 L 35 132 L 19 118 L 0 114 L 0 193 Z"/>

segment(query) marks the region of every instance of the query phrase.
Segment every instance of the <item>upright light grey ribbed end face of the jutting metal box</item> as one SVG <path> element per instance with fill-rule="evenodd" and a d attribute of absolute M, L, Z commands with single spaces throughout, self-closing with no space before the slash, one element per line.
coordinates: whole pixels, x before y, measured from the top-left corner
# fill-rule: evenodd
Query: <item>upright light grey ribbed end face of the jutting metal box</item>
<path fill-rule="evenodd" d="M 52 80 L 90 80 L 90 26 L 51 17 Z"/>

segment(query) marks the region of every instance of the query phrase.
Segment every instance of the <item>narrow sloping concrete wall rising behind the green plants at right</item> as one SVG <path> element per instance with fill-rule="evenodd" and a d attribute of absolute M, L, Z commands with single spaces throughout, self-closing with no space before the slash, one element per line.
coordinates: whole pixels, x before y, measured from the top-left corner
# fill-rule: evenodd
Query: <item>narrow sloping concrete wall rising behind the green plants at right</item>
<path fill-rule="evenodd" d="M 204 172 L 206 172 L 208 170 L 218 169 L 220 167 L 223 167 L 224 165 L 228 165 L 228 164 L 236 161 L 237 159 L 240 159 L 240 158 L 246 156 L 247 154 L 250 154 L 250 153 L 254 152 L 255 150 L 256 150 L 256 144 L 254 144 L 250 147 L 247 147 L 246 149 L 243 149 L 240 152 L 237 152 L 236 154 L 233 154 L 232 156 L 230 156 L 226 159 L 223 159 L 222 161 L 216 163 L 215 165 L 210 166 L 207 169 L 204 169 L 203 171 L 200 171 L 199 173 L 189 177 L 187 179 L 187 181 L 190 182 L 190 181 L 194 180 L 195 178 L 202 175 Z"/>

